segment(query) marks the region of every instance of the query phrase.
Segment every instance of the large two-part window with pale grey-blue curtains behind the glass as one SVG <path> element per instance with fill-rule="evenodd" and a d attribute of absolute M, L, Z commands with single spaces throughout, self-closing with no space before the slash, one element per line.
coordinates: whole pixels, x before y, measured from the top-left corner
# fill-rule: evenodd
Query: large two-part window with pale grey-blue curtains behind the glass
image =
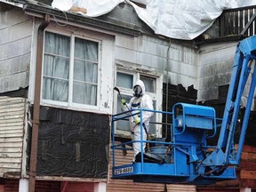
<path fill-rule="evenodd" d="M 99 105 L 100 42 L 45 31 L 42 100 L 68 107 Z"/>

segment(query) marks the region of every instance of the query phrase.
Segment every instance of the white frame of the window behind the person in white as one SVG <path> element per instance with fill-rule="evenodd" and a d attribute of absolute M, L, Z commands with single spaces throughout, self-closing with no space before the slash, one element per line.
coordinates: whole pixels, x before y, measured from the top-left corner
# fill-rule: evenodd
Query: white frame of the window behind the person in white
<path fill-rule="evenodd" d="M 156 79 L 155 84 L 156 84 L 156 92 L 146 92 L 153 101 L 156 101 L 156 108 L 154 108 L 154 110 L 162 110 L 162 95 L 163 95 L 163 76 L 162 75 L 156 75 L 156 74 L 151 74 L 151 73 L 143 73 L 142 71 L 132 71 L 132 70 L 128 70 L 128 69 L 124 69 L 124 68 L 116 68 L 116 75 L 115 75 L 115 85 L 116 85 L 116 78 L 117 78 L 117 73 L 124 73 L 124 74 L 128 74 L 128 75 L 132 75 L 133 76 L 133 84 L 140 79 L 140 76 L 147 76 L 149 78 L 152 79 Z M 132 96 L 132 89 L 127 89 L 124 87 L 118 87 L 118 89 L 121 92 L 121 95 L 129 95 Z M 119 97 L 117 95 L 117 92 L 114 94 L 114 114 L 116 114 L 117 112 L 117 97 Z M 127 100 L 128 102 L 128 100 Z M 162 114 L 159 113 L 155 113 L 154 114 L 156 116 L 156 122 L 160 122 L 162 119 Z M 130 138 L 130 132 L 128 131 L 124 131 L 124 130 L 117 130 L 116 129 L 116 125 L 115 125 L 115 134 L 116 136 L 120 136 L 120 137 L 124 137 L 124 138 Z M 162 137 L 162 125 L 161 124 L 156 124 L 156 134 L 150 134 L 152 137 L 156 137 L 156 138 L 161 138 Z"/>

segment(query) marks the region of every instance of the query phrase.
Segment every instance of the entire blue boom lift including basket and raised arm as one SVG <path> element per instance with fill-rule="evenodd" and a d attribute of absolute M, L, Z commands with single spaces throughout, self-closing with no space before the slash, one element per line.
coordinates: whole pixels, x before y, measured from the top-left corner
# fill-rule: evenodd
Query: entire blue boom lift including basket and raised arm
<path fill-rule="evenodd" d="M 240 163 L 244 146 L 244 137 L 252 107 L 256 84 L 256 36 L 239 42 L 232 69 L 228 98 L 223 118 L 221 119 L 220 136 L 214 146 L 207 145 L 207 139 L 216 135 L 217 124 L 215 110 L 211 107 L 177 103 L 172 112 L 156 111 L 154 113 L 172 116 L 170 142 L 154 140 L 135 140 L 133 142 L 150 143 L 148 152 L 136 156 L 135 164 L 116 165 L 116 150 L 124 150 L 124 145 L 116 144 L 114 124 L 129 115 L 124 113 L 112 118 L 113 179 L 133 180 L 134 182 L 212 184 L 220 180 L 236 179 L 236 166 Z M 251 69 L 253 70 L 251 72 Z M 250 73 L 252 76 L 249 77 Z M 235 148 L 234 136 L 238 112 L 245 84 L 249 83 L 247 104 L 243 118 L 238 147 Z M 142 118 L 141 108 L 140 118 Z M 130 115 L 131 116 L 131 115 Z M 140 121 L 141 122 L 141 121 Z M 142 132 L 142 124 L 140 123 Z M 209 136 L 209 132 L 211 135 Z M 142 149 L 142 145 L 141 145 Z M 142 150 L 141 150 L 142 151 Z"/>

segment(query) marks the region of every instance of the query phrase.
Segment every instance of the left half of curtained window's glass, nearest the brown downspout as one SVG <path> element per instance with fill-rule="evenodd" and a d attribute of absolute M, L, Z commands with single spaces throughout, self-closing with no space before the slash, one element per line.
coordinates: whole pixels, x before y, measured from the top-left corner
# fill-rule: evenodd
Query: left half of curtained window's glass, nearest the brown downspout
<path fill-rule="evenodd" d="M 68 36 L 45 32 L 43 93 L 45 100 L 68 101 Z"/>

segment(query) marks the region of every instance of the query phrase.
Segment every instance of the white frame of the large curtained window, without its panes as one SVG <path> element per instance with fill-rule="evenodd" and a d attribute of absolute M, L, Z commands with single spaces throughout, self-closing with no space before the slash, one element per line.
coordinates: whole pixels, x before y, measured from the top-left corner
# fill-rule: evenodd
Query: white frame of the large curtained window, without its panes
<path fill-rule="evenodd" d="M 64 102 L 64 101 L 58 101 L 58 100 L 44 100 L 42 98 L 42 94 L 41 94 L 41 103 L 42 104 L 46 104 L 46 105 L 51 105 L 51 106 L 58 106 L 58 107 L 63 107 L 63 108 L 74 108 L 74 109 L 92 109 L 92 110 L 99 110 L 100 109 L 100 68 L 101 68 L 101 50 L 102 50 L 102 42 L 100 39 L 97 38 L 92 38 L 90 37 L 86 37 L 86 36 L 79 36 L 76 35 L 72 32 L 63 32 L 60 30 L 54 30 L 54 29 L 47 29 L 45 30 L 47 32 L 50 33 L 54 33 L 54 34 L 58 34 L 61 36 L 69 36 L 70 37 L 70 58 L 69 58 L 69 78 L 68 78 L 68 102 Z M 45 34 L 44 31 L 44 34 Z M 78 38 L 82 38 L 85 40 L 89 40 L 89 41 L 93 41 L 93 42 L 97 42 L 99 44 L 98 46 L 98 56 L 99 56 L 99 60 L 98 60 L 98 83 L 97 83 L 97 105 L 93 106 L 93 105 L 86 105 L 86 104 L 79 104 L 79 103 L 74 103 L 72 102 L 72 90 L 73 90 L 73 66 L 74 66 L 74 50 L 75 50 L 75 37 Z M 41 81 L 41 92 L 43 91 L 43 77 L 44 77 L 44 50 L 43 50 L 43 67 L 42 67 L 42 81 Z M 70 97 L 71 95 L 71 97 Z"/>

